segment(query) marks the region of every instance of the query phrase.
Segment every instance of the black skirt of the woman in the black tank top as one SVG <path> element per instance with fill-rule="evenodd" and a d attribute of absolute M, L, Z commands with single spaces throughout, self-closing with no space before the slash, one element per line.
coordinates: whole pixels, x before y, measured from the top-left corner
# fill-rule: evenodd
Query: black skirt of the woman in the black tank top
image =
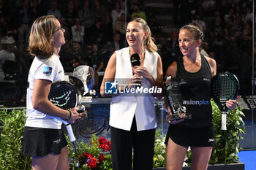
<path fill-rule="evenodd" d="M 212 147 L 215 145 L 214 125 L 202 128 L 190 128 L 179 125 L 169 125 L 165 144 L 168 140 L 181 146 Z"/>

